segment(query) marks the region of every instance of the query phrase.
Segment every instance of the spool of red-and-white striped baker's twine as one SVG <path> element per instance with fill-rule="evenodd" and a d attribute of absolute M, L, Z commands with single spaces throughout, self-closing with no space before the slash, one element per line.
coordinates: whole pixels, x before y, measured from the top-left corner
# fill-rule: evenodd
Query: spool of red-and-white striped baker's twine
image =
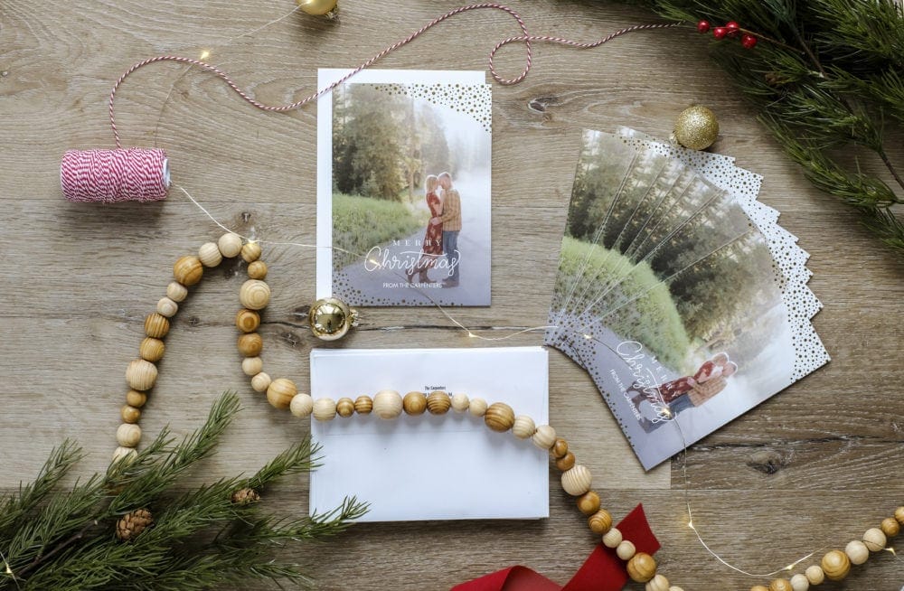
<path fill-rule="evenodd" d="M 60 184 L 71 202 L 155 202 L 166 198 L 169 165 L 157 148 L 69 150 Z"/>

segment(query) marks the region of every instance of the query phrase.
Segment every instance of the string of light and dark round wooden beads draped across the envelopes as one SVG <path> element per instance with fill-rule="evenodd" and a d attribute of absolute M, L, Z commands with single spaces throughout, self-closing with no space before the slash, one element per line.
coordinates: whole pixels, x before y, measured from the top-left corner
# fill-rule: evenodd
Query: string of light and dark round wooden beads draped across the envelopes
<path fill-rule="evenodd" d="M 214 251 L 214 248 L 216 251 Z M 589 469 L 575 463 L 575 456 L 569 451 L 568 442 L 557 438 L 556 431 L 549 425 L 535 426 L 532 417 L 520 415 L 515 417 L 513 409 L 503 403 L 488 405 L 484 399 L 469 399 L 465 394 L 448 395 L 446 392 L 433 391 L 429 395 L 421 392 L 410 392 L 402 399 L 394 390 L 381 390 L 371 398 L 363 395 L 357 399 L 341 398 L 334 401 L 330 398 L 316 401 L 306 393 L 298 393 L 292 380 L 279 378 L 271 380 L 262 371 L 263 361 L 259 353 L 263 348 L 263 340 L 255 331 L 260 324 L 259 310 L 266 307 L 270 300 L 269 286 L 263 281 L 267 277 L 267 265 L 259 260 L 261 249 L 258 243 L 242 244 L 236 234 L 221 236 L 216 244 L 208 242 L 199 249 L 198 256 L 186 256 L 176 260 L 173 267 L 175 281 L 166 286 L 166 296 L 156 305 L 156 312 L 148 314 L 145 319 L 146 338 L 139 346 L 139 359 L 129 362 L 126 380 L 130 387 L 126 395 L 127 404 L 120 409 L 123 423 L 116 433 L 118 447 L 114 451 L 113 461 L 127 461 L 137 455 L 135 447 L 141 440 L 141 427 L 137 421 L 141 417 L 141 408 L 146 404 L 146 390 L 152 389 L 157 378 L 156 361 L 160 361 L 165 353 L 162 339 L 169 332 L 169 318 L 179 310 L 179 303 L 188 296 L 188 286 L 196 285 L 203 276 L 204 267 L 216 267 L 222 258 L 233 258 L 238 255 L 248 263 L 249 280 L 240 288 L 239 299 L 243 306 L 236 314 L 235 324 L 242 333 L 238 340 L 240 352 L 244 355 L 242 371 L 251 376 L 251 387 L 256 391 L 267 392 L 268 402 L 280 409 L 289 409 L 296 417 L 311 417 L 316 420 L 329 421 L 337 415 L 351 417 L 354 413 L 361 415 L 374 412 L 378 417 L 390 419 L 399 417 L 402 411 L 410 415 L 422 414 L 426 408 L 430 413 L 441 415 L 449 408 L 457 412 L 468 412 L 474 417 L 484 417 L 485 424 L 497 432 L 513 431 L 520 439 L 532 439 L 532 443 L 550 452 L 556 467 L 562 472 L 561 485 L 566 493 L 578 497 L 579 511 L 588 515 L 588 527 L 602 535 L 602 543 L 615 549 L 619 558 L 626 560 L 628 576 L 638 583 L 645 583 L 645 591 L 683 591 L 679 586 L 670 585 L 668 579 L 657 574 L 656 561 L 645 552 L 637 552 L 630 540 L 624 539 L 621 531 L 612 527 L 612 516 L 600 508 L 599 495 L 591 490 L 592 475 Z M 871 528 L 863 534 L 863 539 L 852 540 L 844 551 L 831 550 L 822 558 L 819 565 L 806 568 L 804 574 L 797 574 L 790 580 L 773 579 L 769 586 L 755 586 L 755 591 L 807 591 L 811 585 L 819 585 L 824 579 L 832 581 L 847 577 L 851 565 L 860 565 L 867 561 L 871 552 L 879 552 L 885 548 L 887 538 L 897 536 L 904 525 L 904 506 L 898 507 L 893 517 L 886 518 L 879 528 Z"/>

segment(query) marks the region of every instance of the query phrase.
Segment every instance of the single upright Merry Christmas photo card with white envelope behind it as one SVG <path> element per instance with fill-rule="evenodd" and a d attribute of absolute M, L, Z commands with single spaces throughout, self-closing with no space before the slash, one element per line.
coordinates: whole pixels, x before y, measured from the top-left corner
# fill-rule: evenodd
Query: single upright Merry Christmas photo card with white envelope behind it
<path fill-rule="evenodd" d="M 320 84 L 343 70 L 321 70 Z M 318 104 L 317 289 L 350 305 L 490 305 L 482 72 L 365 70 Z"/>

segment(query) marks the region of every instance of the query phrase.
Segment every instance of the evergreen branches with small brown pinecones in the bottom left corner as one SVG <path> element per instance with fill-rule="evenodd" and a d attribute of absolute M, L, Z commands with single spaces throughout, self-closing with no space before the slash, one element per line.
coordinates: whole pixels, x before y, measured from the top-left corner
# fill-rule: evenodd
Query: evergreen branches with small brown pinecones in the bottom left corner
<path fill-rule="evenodd" d="M 304 440 L 278 455 L 253 476 L 222 478 L 191 491 L 177 489 L 180 476 L 212 454 L 239 411 L 239 399 L 218 399 L 204 426 L 174 445 L 168 430 L 132 461 L 112 464 L 71 490 L 61 478 L 80 459 L 67 441 L 54 450 L 33 483 L 2 503 L 0 589 L 81 591 L 85 589 L 193 591 L 285 579 L 308 586 L 310 579 L 287 562 L 284 545 L 344 530 L 366 507 L 348 499 L 315 517 L 277 517 L 260 502 L 236 504 L 231 494 L 260 491 L 279 477 L 315 467 L 317 448 Z M 122 515 L 147 509 L 153 527 L 120 541 Z"/>

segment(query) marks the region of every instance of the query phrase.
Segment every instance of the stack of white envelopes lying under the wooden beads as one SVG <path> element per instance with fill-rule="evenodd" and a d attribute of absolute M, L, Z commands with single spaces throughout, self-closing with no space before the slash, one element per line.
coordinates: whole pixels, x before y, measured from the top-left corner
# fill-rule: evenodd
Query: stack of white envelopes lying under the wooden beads
<path fill-rule="evenodd" d="M 464 392 L 544 425 L 549 355 L 541 347 L 311 352 L 314 399 L 380 389 Z M 354 495 L 371 503 L 360 521 L 549 517 L 547 453 L 469 413 L 312 419 L 311 434 L 324 455 L 311 474 L 312 514 Z"/>

